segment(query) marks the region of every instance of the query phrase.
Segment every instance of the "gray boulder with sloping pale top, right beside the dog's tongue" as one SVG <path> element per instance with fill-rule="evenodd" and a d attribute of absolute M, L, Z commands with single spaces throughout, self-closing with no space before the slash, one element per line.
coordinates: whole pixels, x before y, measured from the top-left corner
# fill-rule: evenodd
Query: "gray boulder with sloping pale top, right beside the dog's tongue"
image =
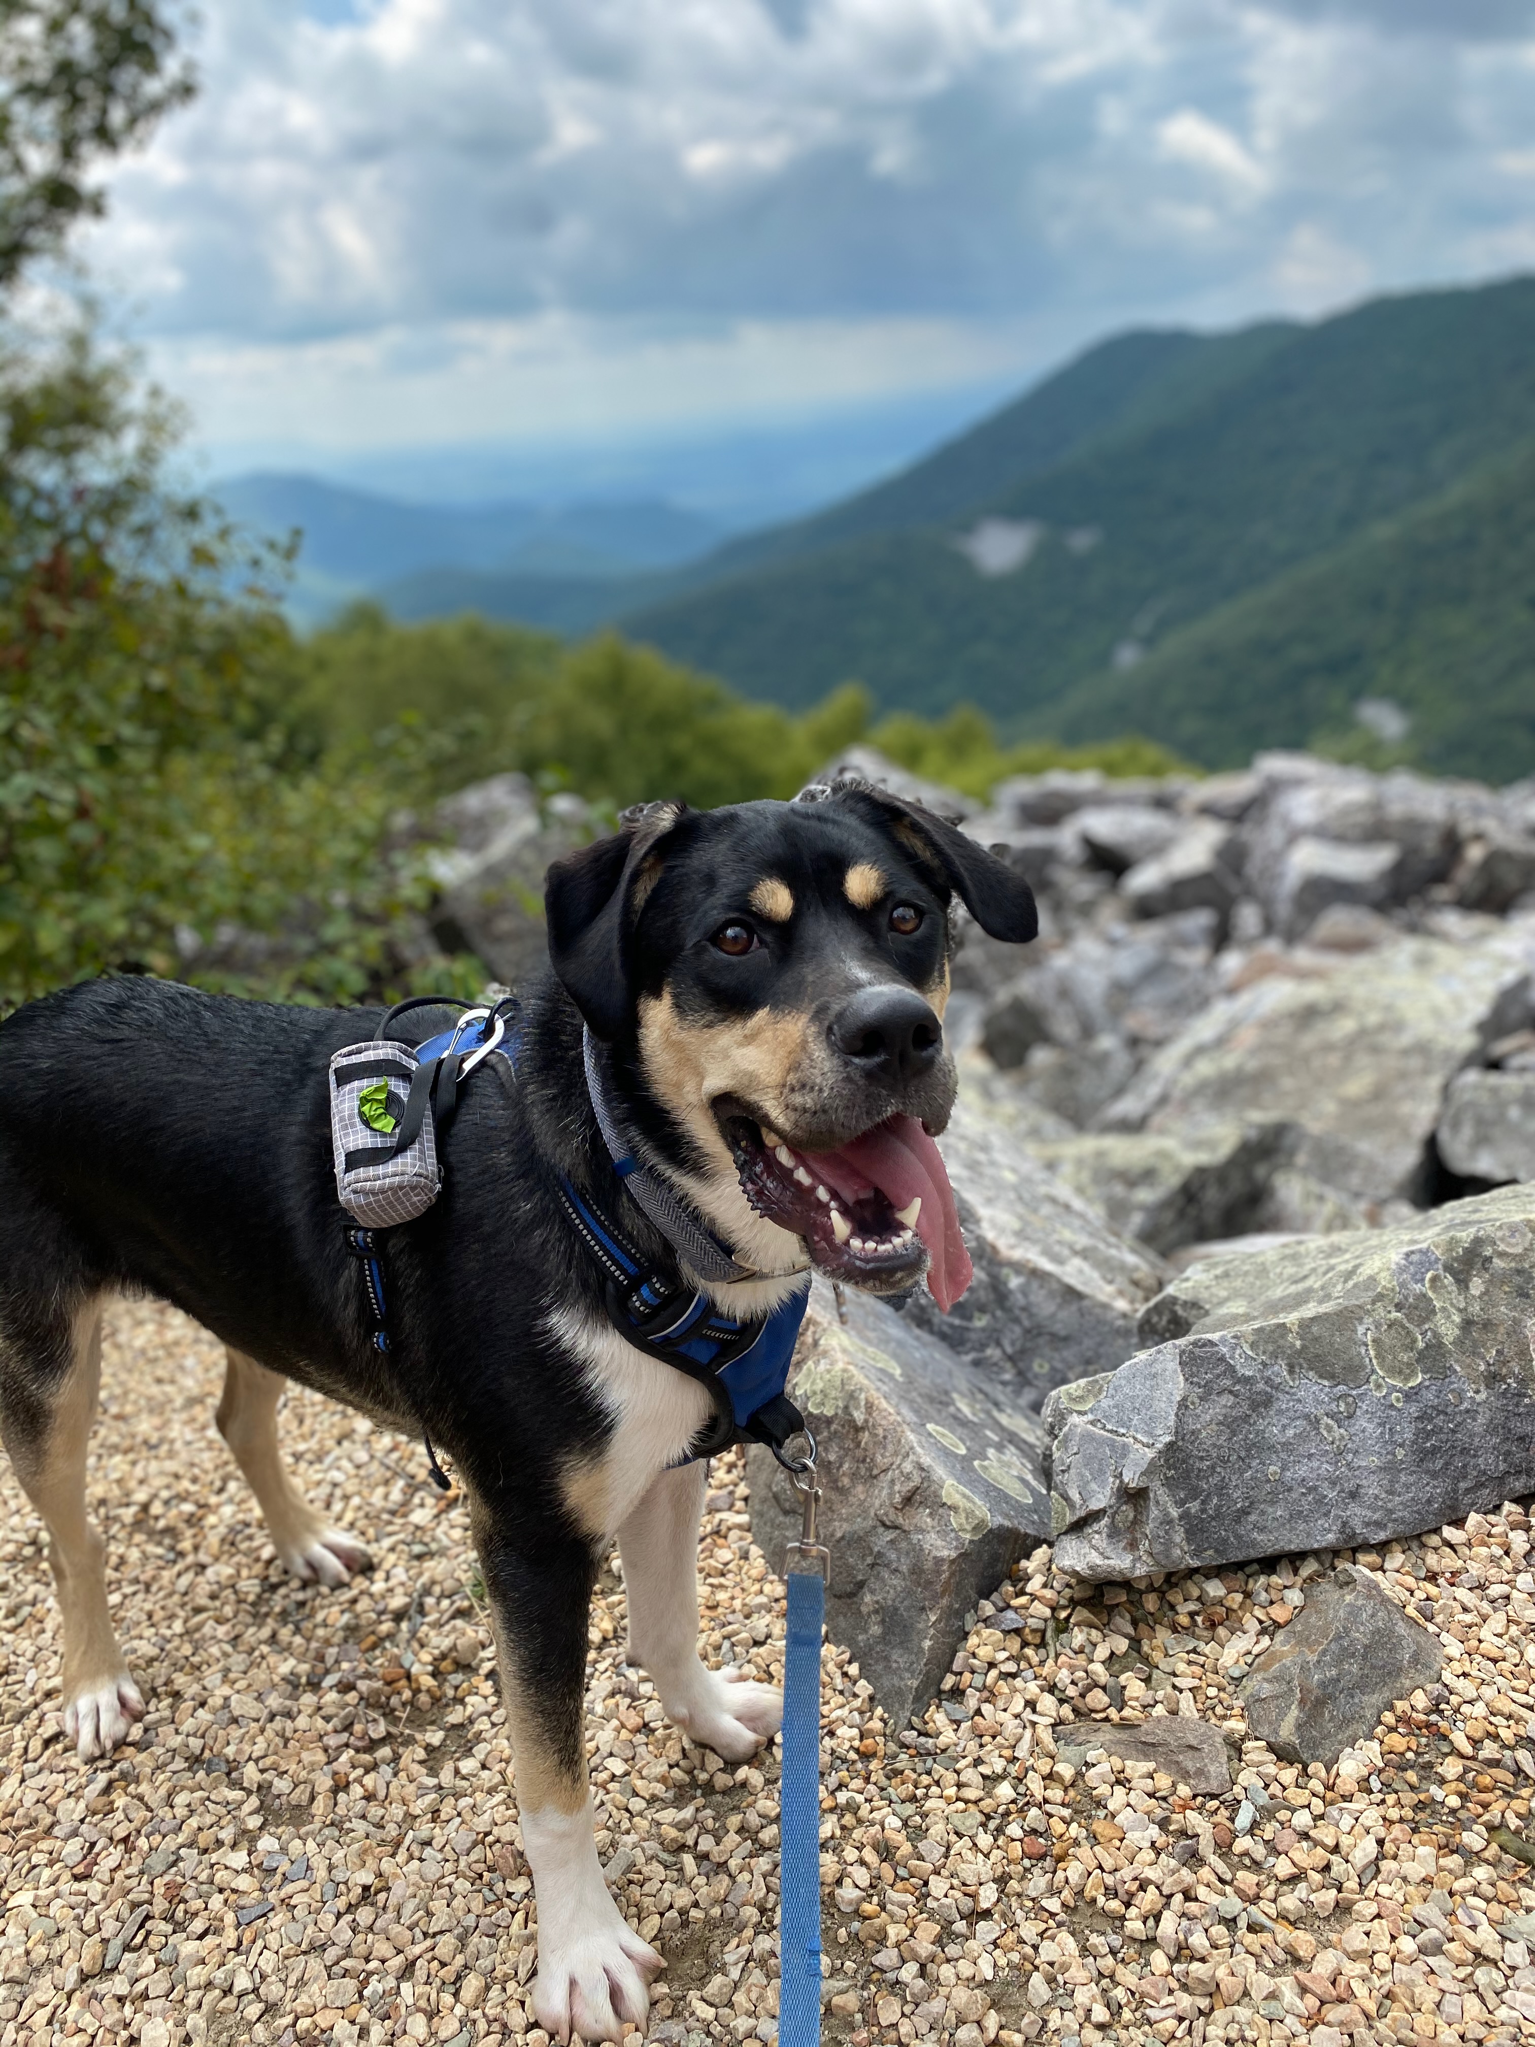
<path fill-rule="evenodd" d="M 1019 1408 L 1052 1386 L 1124 1363 L 1160 1267 L 1064 1187 L 984 1101 L 960 1095 L 939 1150 L 974 1279 L 948 1314 L 927 1292 L 905 1322 L 980 1367 Z"/>

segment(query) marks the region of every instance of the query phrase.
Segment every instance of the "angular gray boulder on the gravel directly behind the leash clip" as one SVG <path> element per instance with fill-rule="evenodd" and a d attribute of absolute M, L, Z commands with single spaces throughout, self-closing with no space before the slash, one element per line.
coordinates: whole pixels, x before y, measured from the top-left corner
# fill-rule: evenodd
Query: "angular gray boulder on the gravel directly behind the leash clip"
<path fill-rule="evenodd" d="M 1050 1525 L 1040 1425 L 884 1302 L 847 1294 L 843 1324 L 821 1279 L 788 1392 L 819 1447 L 831 1640 L 905 1726 L 935 1695 L 966 1613 Z M 747 1474 L 751 1531 L 780 1572 L 800 1500 L 755 1443 Z"/>

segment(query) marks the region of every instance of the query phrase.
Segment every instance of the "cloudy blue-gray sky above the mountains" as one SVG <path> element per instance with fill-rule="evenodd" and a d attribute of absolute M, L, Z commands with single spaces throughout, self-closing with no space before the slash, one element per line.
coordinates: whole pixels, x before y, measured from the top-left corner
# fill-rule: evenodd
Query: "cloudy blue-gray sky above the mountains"
<path fill-rule="evenodd" d="M 203 0 L 86 252 L 242 454 L 1001 391 L 1535 264 L 1535 0 Z"/>

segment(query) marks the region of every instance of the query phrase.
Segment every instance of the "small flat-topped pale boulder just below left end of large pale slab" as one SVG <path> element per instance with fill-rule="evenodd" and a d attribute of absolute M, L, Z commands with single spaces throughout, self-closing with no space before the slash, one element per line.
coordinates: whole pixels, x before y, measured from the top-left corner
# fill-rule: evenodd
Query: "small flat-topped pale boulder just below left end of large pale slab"
<path fill-rule="evenodd" d="M 1291 1124 L 1230 1124 L 1189 1138 L 1046 1138 L 1029 1150 L 1115 1230 L 1167 1255 L 1263 1228 L 1269 1185 L 1296 1136 Z"/>

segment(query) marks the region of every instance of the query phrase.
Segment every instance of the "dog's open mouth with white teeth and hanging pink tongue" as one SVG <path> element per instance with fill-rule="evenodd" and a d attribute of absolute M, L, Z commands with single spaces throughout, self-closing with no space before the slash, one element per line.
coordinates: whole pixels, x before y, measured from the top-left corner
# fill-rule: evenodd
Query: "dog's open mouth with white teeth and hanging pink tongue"
<path fill-rule="evenodd" d="M 720 1118 L 747 1200 L 804 1240 L 831 1279 L 901 1294 L 921 1279 L 944 1312 L 970 1286 L 954 1191 L 915 1116 L 890 1116 L 837 1150 L 796 1150 L 745 1114 Z"/>

